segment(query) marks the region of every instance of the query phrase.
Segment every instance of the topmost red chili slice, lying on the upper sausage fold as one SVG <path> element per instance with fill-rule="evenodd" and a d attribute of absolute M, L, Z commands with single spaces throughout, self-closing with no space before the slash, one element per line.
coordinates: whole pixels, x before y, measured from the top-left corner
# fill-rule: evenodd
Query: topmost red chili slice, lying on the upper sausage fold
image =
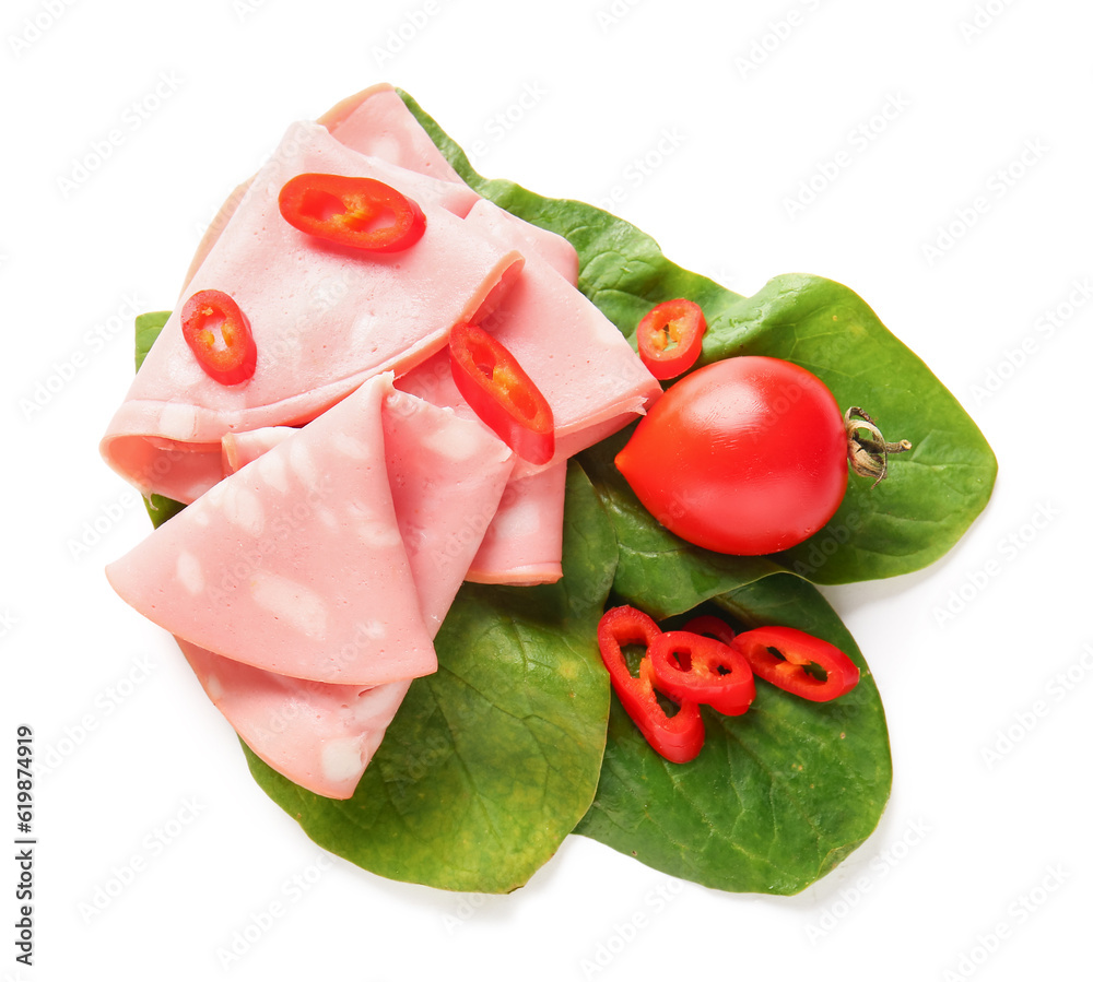
<path fill-rule="evenodd" d="M 294 228 L 368 252 L 401 252 L 425 232 L 416 202 L 371 177 L 297 174 L 281 188 L 278 206 Z"/>

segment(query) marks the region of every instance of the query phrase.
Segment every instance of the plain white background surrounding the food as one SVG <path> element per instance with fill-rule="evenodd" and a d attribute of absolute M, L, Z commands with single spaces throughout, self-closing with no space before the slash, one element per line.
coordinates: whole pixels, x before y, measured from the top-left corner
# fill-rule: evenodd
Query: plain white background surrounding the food
<path fill-rule="evenodd" d="M 55 766 L 35 792 L 36 963 L 13 960 L 4 887 L 0 978 L 1077 978 L 1093 12 L 725 7 L 4 4 L 0 736 L 11 760 L 30 724 Z M 826 591 L 883 695 L 895 782 L 877 833 L 803 894 L 678 885 L 578 838 L 508 897 L 326 859 L 169 639 L 108 589 L 103 566 L 149 530 L 96 449 L 131 315 L 174 304 L 203 226 L 290 121 L 376 81 L 478 142 L 487 175 L 596 203 L 614 189 L 669 257 L 740 293 L 792 271 L 848 284 L 994 446 L 994 499 L 949 556 Z M 0 883 L 17 872 L 3 861 Z"/>

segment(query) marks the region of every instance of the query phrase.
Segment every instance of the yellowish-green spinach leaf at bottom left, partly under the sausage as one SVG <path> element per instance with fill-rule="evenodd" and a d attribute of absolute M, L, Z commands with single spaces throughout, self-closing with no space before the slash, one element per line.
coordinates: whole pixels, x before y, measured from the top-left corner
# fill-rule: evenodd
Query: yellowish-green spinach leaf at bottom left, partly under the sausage
<path fill-rule="evenodd" d="M 466 584 L 356 793 L 304 791 L 247 752 L 255 779 L 317 843 L 393 879 L 507 892 L 588 809 L 609 684 L 596 626 L 614 576 L 611 524 L 576 463 L 564 576 L 552 585 Z"/>

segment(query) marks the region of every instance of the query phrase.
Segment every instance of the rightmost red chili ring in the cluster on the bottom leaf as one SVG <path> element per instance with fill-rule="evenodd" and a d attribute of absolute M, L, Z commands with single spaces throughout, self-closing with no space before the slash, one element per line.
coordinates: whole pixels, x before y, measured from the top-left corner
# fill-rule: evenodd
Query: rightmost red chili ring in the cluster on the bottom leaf
<path fill-rule="evenodd" d="M 737 635 L 732 644 L 760 678 L 813 702 L 837 699 L 858 684 L 858 666 L 844 652 L 792 627 L 759 627 Z M 812 665 L 823 678 L 809 671 Z"/>

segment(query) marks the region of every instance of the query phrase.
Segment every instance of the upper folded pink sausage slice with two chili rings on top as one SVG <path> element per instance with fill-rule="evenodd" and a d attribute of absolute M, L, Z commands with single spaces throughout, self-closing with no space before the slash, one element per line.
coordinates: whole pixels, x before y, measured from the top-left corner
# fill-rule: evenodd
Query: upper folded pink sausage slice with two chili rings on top
<path fill-rule="evenodd" d="M 421 206 L 425 234 L 392 253 L 325 246 L 278 206 L 284 184 L 307 171 L 391 185 Z M 524 262 L 462 221 L 474 200 L 462 186 L 356 153 L 318 123 L 293 125 L 186 288 L 223 291 L 239 305 L 258 351 L 254 377 L 210 378 L 183 336 L 179 305 L 108 426 L 106 461 L 142 493 L 188 504 L 220 480 L 225 434 L 305 423 L 365 379 L 427 358 L 454 323 L 494 306 Z"/>

